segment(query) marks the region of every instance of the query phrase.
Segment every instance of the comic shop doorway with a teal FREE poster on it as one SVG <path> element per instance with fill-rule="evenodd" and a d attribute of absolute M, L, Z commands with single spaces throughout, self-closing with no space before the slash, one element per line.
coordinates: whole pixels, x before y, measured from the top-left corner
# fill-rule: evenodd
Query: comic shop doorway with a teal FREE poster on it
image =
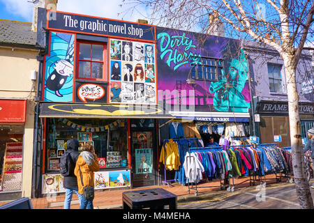
<path fill-rule="evenodd" d="M 151 126 L 154 121 L 151 122 Z M 132 126 L 132 125 L 131 125 Z M 131 149 L 133 161 L 133 187 L 156 185 L 156 134 L 149 126 L 131 127 Z"/>

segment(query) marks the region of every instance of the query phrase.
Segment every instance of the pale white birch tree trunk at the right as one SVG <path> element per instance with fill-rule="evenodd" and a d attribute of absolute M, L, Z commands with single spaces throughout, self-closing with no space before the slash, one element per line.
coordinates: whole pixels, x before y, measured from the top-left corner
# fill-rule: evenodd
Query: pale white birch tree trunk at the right
<path fill-rule="evenodd" d="M 306 167 L 304 163 L 304 152 L 301 141 L 301 128 L 299 116 L 299 95 L 296 84 L 296 66 L 294 56 L 283 55 L 285 63 L 285 77 L 287 80 L 287 98 L 289 107 L 290 139 L 292 147 L 292 167 L 294 181 L 297 189 L 297 197 L 302 209 L 312 209 L 313 199 L 306 179 Z"/>

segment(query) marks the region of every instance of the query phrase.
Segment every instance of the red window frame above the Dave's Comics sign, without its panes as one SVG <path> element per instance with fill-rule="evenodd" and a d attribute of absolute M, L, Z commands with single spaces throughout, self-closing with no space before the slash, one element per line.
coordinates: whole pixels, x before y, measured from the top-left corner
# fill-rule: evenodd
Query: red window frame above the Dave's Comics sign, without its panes
<path fill-rule="evenodd" d="M 89 44 L 91 45 L 91 59 L 85 60 L 80 59 L 80 44 Z M 103 46 L 103 61 L 95 61 L 93 60 L 93 45 L 102 45 Z M 101 81 L 101 82 L 107 82 L 107 43 L 94 43 L 94 42 L 87 42 L 87 41 L 77 41 L 76 45 L 76 79 L 87 79 L 87 80 L 95 80 L 95 81 Z M 96 62 L 96 63 L 103 63 L 103 78 L 87 78 L 87 77 L 79 77 L 80 74 L 80 61 L 87 61 L 87 62 Z M 91 72 L 90 72 L 91 75 Z"/>

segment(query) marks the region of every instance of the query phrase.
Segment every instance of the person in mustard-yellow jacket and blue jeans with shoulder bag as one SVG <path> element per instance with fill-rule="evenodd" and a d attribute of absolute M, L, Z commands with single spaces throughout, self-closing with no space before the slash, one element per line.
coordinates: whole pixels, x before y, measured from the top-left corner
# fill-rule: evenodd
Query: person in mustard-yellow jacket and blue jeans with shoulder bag
<path fill-rule="evenodd" d="M 94 172 L 99 170 L 98 157 L 95 154 L 94 146 L 85 144 L 82 153 L 77 158 L 75 176 L 77 176 L 78 193 L 83 195 L 83 187 L 94 187 Z M 80 209 L 94 209 L 92 199 L 82 196 Z"/>

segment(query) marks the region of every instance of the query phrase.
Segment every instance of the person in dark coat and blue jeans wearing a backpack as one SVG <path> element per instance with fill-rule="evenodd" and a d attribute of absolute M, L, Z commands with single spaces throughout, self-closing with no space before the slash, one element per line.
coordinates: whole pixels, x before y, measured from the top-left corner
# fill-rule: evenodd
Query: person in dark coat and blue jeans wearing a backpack
<path fill-rule="evenodd" d="M 64 199 L 64 209 L 70 209 L 73 192 L 82 203 L 83 196 L 78 192 L 77 178 L 74 174 L 75 164 L 80 155 L 78 152 L 79 141 L 77 139 L 68 139 L 66 142 L 66 152 L 60 157 L 60 173 L 63 176 L 63 187 L 66 189 L 66 198 Z"/>

